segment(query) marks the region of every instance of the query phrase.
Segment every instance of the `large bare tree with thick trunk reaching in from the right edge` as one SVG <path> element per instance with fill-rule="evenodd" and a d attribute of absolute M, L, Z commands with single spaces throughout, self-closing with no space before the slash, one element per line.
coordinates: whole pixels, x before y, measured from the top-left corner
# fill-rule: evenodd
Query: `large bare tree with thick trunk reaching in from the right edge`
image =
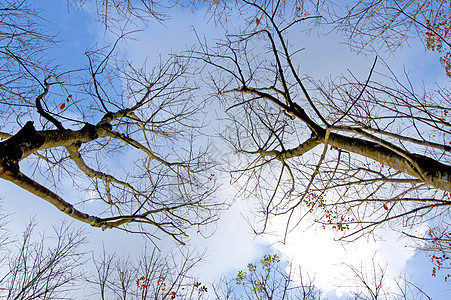
<path fill-rule="evenodd" d="M 231 174 L 261 201 L 256 230 L 285 217 L 286 236 L 313 218 L 343 240 L 383 224 L 423 238 L 420 224 L 449 220 L 449 90 L 414 87 L 377 60 L 366 78 L 315 81 L 299 72 L 288 36 L 316 16 L 280 19 L 244 2 L 266 21 L 192 56 L 213 67 L 228 107 Z"/>

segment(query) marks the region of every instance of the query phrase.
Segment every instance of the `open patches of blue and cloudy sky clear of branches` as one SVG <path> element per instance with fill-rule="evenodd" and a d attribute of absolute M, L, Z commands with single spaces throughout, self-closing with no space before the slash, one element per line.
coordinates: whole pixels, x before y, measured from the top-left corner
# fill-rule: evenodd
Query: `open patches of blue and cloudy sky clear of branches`
<path fill-rule="evenodd" d="M 43 4 L 44 2 L 36 1 L 36 5 Z M 58 33 L 62 40 L 57 48 L 49 52 L 49 56 L 64 69 L 86 65 L 84 52 L 87 49 L 96 44 L 111 45 L 114 40 L 113 36 L 105 32 L 102 25 L 94 20 L 94 8 L 88 7 L 81 11 L 69 6 L 65 1 L 54 0 L 45 1 L 42 9 L 42 16 L 54 24 L 52 31 Z M 183 51 L 194 44 L 196 36 L 193 29 L 208 39 L 219 38 L 223 34 L 222 29 L 215 27 L 212 22 L 207 23 L 205 11 L 193 14 L 186 10 L 174 10 L 171 16 L 172 18 L 164 23 L 151 22 L 147 26 L 137 28 L 143 31 L 134 34 L 132 36 L 134 40 L 121 43 L 120 55 L 138 64 L 144 62 L 146 58 L 152 63 L 159 55 Z M 296 37 L 291 41 L 296 41 Z M 333 78 L 347 70 L 351 70 L 358 77 L 366 78 L 374 59 L 373 55 L 356 56 L 351 53 L 347 46 L 341 43 L 340 36 L 328 36 L 326 39 L 303 34 L 296 42 L 299 42 L 301 47 L 306 44 L 304 46 L 306 49 L 299 54 L 302 68 L 317 79 Z M 447 82 L 447 79 L 440 75 L 443 72 L 438 66 L 437 56 L 425 52 L 420 43 L 413 42 L 410 48 L 399 51 L 402 55 L 398 54 L 396 59 L 392 56 L 386 58 L 392 63 L 391 66 L 395 71 L 414 66 L 415 71 L 412 71 L 414 82 L 422 79 Z M 218 112 L 211 111 L 211 116 L 216 113 Z M 220 144 L 214 146 L 222 147 Z M 231 199 L 234 190 L 227 187 L 227 178 L 222 180 L 224 183 L 222 196 Z M 32 216 L 36 216 L 40 228 L 51 226 L 55 220 L 64 219 L 64 216 L 49 204 L 24 191 L 17 191 L 9 183 L 0 182 L 0 190 L 6 211 L 17 216 L 12 222 L 17 230 L 21 230 L 24 220 Z M 243 269 L 250 261 L 259 260 L 263 254 L 278 252 L 284 259 L 292 260 L 310 274 L 315 274 L 318 284 L 334 293 L 334 286 L 340 284 L 336 277 L 347 274 L 340 265 L 341 262 L 359 265 L 361 261 L 368 261 L 376 255 L 379 263 L 387 264 L 390 276 L 405 272 L 407 276 L 412 276 L 414 282 L 422 285 L 433 299 L 446 299 L 445 295 L 449 293 L 447 291 L 449 285 L 444 284 L 442 279 L 431 278 L 432 265 L 428 259 L 421 254 L 414 255 L 410 248 L 403 246 L 405 242 L 399 240 L 391 231 L 382 232 L 385 241 L 363 239 L 344 248 L 333 242 L 331 234 L 299 228 L 291 235 L 290 242 L 282 245 L 277 237 L 255 237 L 251 233 L 245 218 L 252 218 L 248 211 L 253 208 L 253 199 L 236 202 L 229 211 L 223 213 L 212 237 L 208 239 L 196 235 L 192 237 L 192 244 L 198 249 L 207 249 L 207 263 L 198 268 L 201 279 L 208 281 L 219 279 L 221 274 L 236 274 L 237 270 Z M 272 226 L 275 231 L 283 227 L 277 220 L 274 220 Z M 144 245 L 140 236 L 131 236 L 119 231 L 101 232 L 91 228 L 87 230 L 93 248 L 105 244 L 106 248 L 117 250 L 123 255 L 136 256 Z M 159 246 L 165 251 L 173 246 L 173 242 L 164 239 Z"/>

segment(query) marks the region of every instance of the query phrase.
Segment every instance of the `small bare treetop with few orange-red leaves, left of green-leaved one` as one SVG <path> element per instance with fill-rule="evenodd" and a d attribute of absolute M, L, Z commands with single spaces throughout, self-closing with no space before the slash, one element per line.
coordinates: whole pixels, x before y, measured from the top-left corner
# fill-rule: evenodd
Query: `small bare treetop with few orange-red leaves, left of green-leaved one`
<path fill-rule="evenodd" d="M 193 275 L 202 255 L 180 250 L 162 256 L 144 249 L 138 260 L 107 254 L 86 274 L 95 299 L 204 299 L 207 288 Z"/>

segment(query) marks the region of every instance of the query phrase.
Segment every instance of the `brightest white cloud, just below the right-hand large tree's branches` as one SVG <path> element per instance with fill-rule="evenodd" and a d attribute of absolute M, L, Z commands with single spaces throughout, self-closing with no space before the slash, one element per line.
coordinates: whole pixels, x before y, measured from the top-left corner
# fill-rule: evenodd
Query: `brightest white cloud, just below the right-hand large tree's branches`
<path fill-rule="evenodd" d="M 343 244 L 335 240 L 334 231 L 330 228 L 316 229 L 307 226 L 309 222 L 306 221 L 288 234 L 285 244 L 280 242 L 280 236 L 269 237 L 269 240 L 292 260 L 292 267 L 300 267 L 304 274 L 315 278 L 314 284 L 326 292 L 341 295 L 356 291 L 356 285 L 350 284 L 354 273 L 348 266 L 371 271 L 369 268 L 374 264 L 386 268 L 386 278 L 395 278 L 404 272 L 407 261 L 414 255 L 414 251 L 404 247 L 405 241 L 392 230 L 379 230 L 379 240 L 363 237 Z M 285 219 L 273 219 L 270 230 L 284 232 Z M 389 285 L 393 283 L 387 282 Z"/>

